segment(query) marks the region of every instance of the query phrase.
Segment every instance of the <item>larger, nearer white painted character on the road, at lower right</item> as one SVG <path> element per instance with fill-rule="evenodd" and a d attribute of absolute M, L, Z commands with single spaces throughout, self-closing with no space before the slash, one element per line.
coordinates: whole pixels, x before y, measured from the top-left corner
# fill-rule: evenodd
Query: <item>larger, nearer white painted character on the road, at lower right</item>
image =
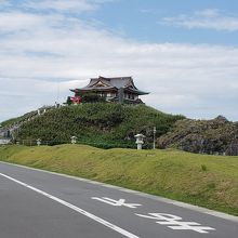
<path fill-rule="evenodd" d="M 156 223 L 160 225 L 167 225 L 171 229 L 187 229 L 197 233 L 209 234 L 207 230 L 215 230 L 215 228 L 209 226 L 201 226 L 196 222 L 182 222 L 182 217 L 166 213 L 148 213 L 149 215 L 135 214 L 145 219 L 157 220 Z"/>

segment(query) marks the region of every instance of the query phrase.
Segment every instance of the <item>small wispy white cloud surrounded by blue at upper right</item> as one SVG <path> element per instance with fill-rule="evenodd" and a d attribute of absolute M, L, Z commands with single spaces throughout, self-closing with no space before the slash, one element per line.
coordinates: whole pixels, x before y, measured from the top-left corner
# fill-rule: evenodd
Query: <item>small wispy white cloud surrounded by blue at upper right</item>
<path fill-rule="evenodd" d="M 238 30 L 238 16 L 224 15 L 215 9 L 206 9 L 194 12 L 190 15 L 182 14 L 173 17 L 164 17 L 161 22 L 166 25 L 185 27 L 188 29 L 203 28 L 214 30 Z"/>

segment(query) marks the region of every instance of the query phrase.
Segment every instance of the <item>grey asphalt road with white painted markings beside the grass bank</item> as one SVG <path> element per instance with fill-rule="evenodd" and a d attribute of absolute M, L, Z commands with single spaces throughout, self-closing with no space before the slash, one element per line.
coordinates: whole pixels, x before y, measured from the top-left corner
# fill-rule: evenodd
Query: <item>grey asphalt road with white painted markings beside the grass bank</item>
<path fill-rule="evenodd" d="M 16 237 L 237 238 L 238 217 L 0 162 L 0 238 Z"/>

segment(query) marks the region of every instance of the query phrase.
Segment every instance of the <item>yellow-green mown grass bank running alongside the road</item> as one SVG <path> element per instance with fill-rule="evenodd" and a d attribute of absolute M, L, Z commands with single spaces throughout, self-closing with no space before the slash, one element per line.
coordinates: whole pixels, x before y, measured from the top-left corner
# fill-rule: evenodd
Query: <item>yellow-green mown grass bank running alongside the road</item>
<path fill-rule="evenodd" d="M 88 177 L 238 215 L 238 157 L 57 145 L 0 147 L 0 160 Z"/>

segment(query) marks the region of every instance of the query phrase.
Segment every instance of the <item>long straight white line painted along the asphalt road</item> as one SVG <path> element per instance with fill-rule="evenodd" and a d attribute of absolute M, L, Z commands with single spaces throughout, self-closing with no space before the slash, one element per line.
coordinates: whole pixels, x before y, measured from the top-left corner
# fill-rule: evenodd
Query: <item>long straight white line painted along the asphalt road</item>
<path fill-rule="evenodd" d="M 29 189 L 38 193 L 38 194 L 41 194 L 41 195 L 43 195 L 43 196 L 45 196 L 45 197 L 48 197 L 48 198 L 50 198 L 50 199 L 52 199 L 54 201 L 57 201 L 58 203 L 64 204 L 64 206 L 70 208 L 70 209 L 72 209 L 74 211 L 79 212 L 80 214 L 83 214 L 83 215 L 85 215 L 85 216 L 88 216 L 88 217 L 90 217 L 90 219 L 92 219 L 92 220 L 103 224 L 104 226 L 107 226 L 110 229 L 114 229 L 115 232 L 117 232 L 117 233 L 119 233 L 119 234 L 121 234 L 121 235 L 123 235 L 125 237 L 129 237 L 129 238 L 140 238 L 138 236 L 135 236 L 134 234 L 129 233 L 128 230 L 122 229 L 119 226 L 116 226 L 116 225 L 114 225 L 114 224 L 111 224 L 111 223 L 109 223 L 109 222 L 107 222 L 107 221 L 105 221 L 105 220 L 103 220 L 103 219 L 101 219 L 101 217 L 90 213 L 90 212 L 87 212 L 85 210 L 80 209 L 80 208 L 78 208 L 78 207 L 76 207 L 76 206 L 74 206 L 74 204 L 71 204 L 71 203 L 69 203 L 67 201 L 64 201 L 64 200 L 62 200 L 62 199 L 60 199 L 57 197 L 54 197 L 53 195 L 50 195 L 50 194 L 48 194 L 48 193 L 45 193 L 43 190 L 40 190 L 40 189 L 38 189 L 36 187 L 32 187 L 32 186 L 28 185 L 26 183 L 23 183 L 23 182 L 21 182 L 18 180 L 15 180 L 15 178 L 6 175 L 6 174 L 0 173 L 0 175 L 5 177 L 5 178 L 9 178 L 9 180 L 11 180 L 11 181 L 13 181 L 13 182 L 15 182 L 17 184 L 19 184 L 19 185 L 22 185 L 24 187 L 27 187 L 27 188 L 29 188 Z"/>

